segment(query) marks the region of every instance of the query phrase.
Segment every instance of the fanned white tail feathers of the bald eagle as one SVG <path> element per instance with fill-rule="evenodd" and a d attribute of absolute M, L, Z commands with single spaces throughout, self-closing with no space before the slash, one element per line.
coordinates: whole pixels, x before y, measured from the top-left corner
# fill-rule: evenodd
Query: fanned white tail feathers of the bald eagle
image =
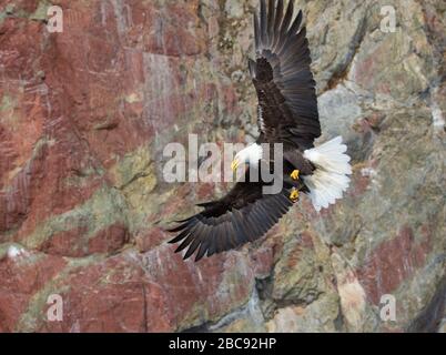
<path fill-rule="evenodd" d="M 303 176 L 303 179 L 317 212 L 328 207 L 337 199 L 342 199 L 343 192 L 348 187 L 347 175 L 352 174 L 352 166 L 351 158 L 345 154 L 346 151 L 347 146 L 342 144 L 342 138 L 336 136 L 304 152 L 304 158 L 316 168 L 313 175 Z"/>

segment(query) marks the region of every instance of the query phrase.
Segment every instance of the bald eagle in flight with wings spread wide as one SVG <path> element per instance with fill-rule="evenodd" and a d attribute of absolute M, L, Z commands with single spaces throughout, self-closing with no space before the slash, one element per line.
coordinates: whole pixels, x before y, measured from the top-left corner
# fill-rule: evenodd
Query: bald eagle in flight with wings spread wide
<path fill-rule="evenodd" d="M 249 60 L 259 98 L 260 135 L 232 163 L 233 170 L 242 163 L 249 166 L 245 179 L 222 199 L 199 204 L 202 212 L 170 230 L 178 234 L 170 243 L 181 242 L 176 252 L 187 248 L 184 258 L 197 251 L 199 261 L 260 239 L 298 201 L 300 193 L 307 194 L 320 211 L 348 187 L 352 168 L 342 138 L 314 146 L 321 124 L 308 41 L 301 24 L 302 11 L 294 17 L 294 0 L 286 9 L 283 0 L 260 1 L 260 16 L 254 14 L 256 58 Z M 262 146 L 273 143 L 283 144 L 283 187 L 277 194 L 264 194 L 267 183 L 262 176 L 251 178 L 259 174 L 262 162 L 271 162 Z"/>

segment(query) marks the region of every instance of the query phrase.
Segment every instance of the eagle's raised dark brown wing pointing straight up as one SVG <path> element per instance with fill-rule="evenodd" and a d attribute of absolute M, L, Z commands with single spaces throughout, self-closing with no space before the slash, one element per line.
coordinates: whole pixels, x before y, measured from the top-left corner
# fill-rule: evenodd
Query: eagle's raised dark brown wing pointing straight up
<path fill-rule="evenodd" d="M 302 11 L 293 20 L 294 0 L 261 0 L 254 14 L 256 60 L 250 72 L 259 97 L 260 140 L 308 149 L 321 135 L 315 81 Z"/>

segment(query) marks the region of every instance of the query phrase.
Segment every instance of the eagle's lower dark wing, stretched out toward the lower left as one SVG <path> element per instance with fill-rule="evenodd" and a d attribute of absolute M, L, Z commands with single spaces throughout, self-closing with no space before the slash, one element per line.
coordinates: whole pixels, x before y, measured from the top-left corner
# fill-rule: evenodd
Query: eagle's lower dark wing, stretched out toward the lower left
<path fill-rule="evenodd" d="M 189 258 L 197 251 L 195 261 L 199 261 L 204 255 L 235 248 L 263 236 L 287 213 L 293 205 L 288 199 L 290 183 L 284 181 L 278 194 L 263 194 L 265 184 L 252 182 L 249 175 L 250 169 L 245 182 L 237 182 L 221 200 L 201 204 L 204 211 L 170 230 L 179 233 L 170 243 L 182 242 L 176 253 L 187 248 L 184 258 Z"/>

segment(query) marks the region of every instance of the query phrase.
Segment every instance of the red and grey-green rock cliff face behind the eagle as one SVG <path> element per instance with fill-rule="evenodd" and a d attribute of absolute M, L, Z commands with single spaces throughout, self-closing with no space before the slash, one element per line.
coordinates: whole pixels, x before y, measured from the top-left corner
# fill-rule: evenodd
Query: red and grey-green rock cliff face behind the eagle
<path fill-rule="evenodd" d="M 194 264 L 163 227 L 226 186 L 165 183 L 162 152 L 255 136 L 256 1 L 0 0 L 0 332 L 445 329 L 445 2 L 298 4 L 353 184 Z"/>

